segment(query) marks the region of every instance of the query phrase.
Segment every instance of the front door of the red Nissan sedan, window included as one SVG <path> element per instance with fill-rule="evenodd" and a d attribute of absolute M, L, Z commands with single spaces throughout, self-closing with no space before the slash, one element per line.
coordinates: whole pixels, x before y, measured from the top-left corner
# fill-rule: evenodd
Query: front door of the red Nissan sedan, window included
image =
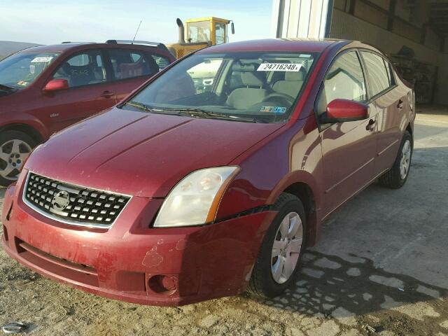
<path fill-rule="evenodd" d="M 333 61 L 319 92 L 316 112 L 325 113 L 333 99 L 367 102 L 365 73 L 356 50 L 344 51 Z M 319 125 L 323 154 L 324 212 L 329 214 L 370 183 L 377 149 L 376 109 L 367 120 Z"/>

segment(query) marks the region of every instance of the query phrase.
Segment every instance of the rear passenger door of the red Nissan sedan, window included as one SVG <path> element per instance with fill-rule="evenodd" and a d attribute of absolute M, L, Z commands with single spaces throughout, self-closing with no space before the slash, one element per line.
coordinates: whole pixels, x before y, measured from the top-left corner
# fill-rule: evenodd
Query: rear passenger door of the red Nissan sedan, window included
<path fill-rule="evenodd" d="M 376 52 L 360 52 L 367 72 L 372 105 L 378 111 L 377 160 L 374 174 L 392 167 L 401 141 L 400 124 L 406 120 L 403 111 L 406 92 L 395 84 L 391 64 Z"/>

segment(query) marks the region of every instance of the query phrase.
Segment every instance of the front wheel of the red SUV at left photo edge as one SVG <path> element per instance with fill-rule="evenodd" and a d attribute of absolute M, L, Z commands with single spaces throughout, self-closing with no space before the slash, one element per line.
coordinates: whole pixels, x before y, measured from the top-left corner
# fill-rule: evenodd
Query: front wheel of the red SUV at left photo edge
<path fill-rule="evenodd" d="M 18 179 L 23 162 L 36 146 L 29 135 L 9 130 L 0 133 L 0 185 L 9 186 Z"/>

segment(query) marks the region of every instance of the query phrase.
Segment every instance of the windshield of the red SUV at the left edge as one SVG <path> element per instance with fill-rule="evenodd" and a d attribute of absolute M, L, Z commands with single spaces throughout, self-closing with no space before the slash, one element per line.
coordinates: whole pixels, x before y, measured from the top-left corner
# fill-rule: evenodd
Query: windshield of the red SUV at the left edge
<path fill-rule="evenodd" d="M 18 52 L 0 61 L 0 85 L 22 89 L 31 84 L 59 54 Z"/>

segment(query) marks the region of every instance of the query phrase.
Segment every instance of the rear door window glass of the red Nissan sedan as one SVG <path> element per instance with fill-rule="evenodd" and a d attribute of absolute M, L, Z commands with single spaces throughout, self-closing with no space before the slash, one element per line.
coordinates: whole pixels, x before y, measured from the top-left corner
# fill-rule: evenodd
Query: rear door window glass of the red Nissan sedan
<path fill-rule="evenodd" d="M 383 57 L 366 51 L 362 51 L 361 54 L 367 68 L 370 91 L 374 96 L 391 86 L 391 73 L 387 71 Z"/>

